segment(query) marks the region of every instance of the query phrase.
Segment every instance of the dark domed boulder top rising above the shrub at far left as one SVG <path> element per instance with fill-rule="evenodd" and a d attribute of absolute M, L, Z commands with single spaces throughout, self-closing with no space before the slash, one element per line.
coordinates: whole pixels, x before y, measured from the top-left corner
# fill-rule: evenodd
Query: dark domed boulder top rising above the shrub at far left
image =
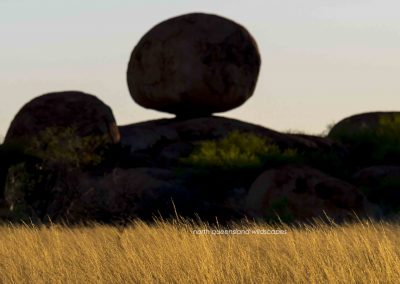
<path fill-rule="evenodd" d="M 80 136 L 107 135 L 119 142 L 112 110 L 95 96 L 77 91 L 49 93 L 28 102 L 12 121 L 5 143 L 26 140 L 48 128 L 74 128 Z"/>

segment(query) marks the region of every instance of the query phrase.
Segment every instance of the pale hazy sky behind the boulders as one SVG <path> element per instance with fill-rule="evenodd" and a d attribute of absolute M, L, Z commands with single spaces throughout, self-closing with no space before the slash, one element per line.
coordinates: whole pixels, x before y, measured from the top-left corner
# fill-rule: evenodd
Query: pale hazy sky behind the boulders
<path fill-rule="evenodd" d="M 130 97 L 131 51 L 157 23 L 206 12 L 245 26 L 262 66 L 253 96 L 220 115 L 321 133 L 346 116 L 400 110 L 398 0 L 0 0 L 0 136 L 32 98 L 80 90 L 117 123 L 170 117 Z"/>

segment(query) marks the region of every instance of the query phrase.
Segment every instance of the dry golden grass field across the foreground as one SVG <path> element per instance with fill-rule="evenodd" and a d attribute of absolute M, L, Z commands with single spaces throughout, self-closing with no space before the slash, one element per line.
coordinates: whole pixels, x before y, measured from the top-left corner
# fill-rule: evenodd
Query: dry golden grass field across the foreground
<path fill-rule="evenodd" d="M 399 283 L 400 225 L 287 227 L 282 235 L 192 234 L 186 221 L 0 227 L 2 283 Z"/>

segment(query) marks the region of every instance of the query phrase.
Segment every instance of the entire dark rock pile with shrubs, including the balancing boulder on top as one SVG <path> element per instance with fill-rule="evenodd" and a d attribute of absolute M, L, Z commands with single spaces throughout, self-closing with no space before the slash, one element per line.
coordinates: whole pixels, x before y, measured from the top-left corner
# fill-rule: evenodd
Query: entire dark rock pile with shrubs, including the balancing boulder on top
<path fill-rule="evenodd" d="M 94 168 L 71 166 L 63 153 L 47 167 L 43 156 L 1 165 L 9 168 L 0 176 L 7 176 L 11 215 L 38 222 L 149 220 L 176 213 L 219 222 L 277 215 L 284 221 L 325 216 L 340 221 L 354 213 L 379 213 L 370 202 L 383 204 L 386 212 L 400 209 L 397 113 L 344 120 L 328 137 L 211 116 L 240 106 L 253 94 L 260 62 L 257 44 L 244 27 L 216 15 L 188 14 L 145 34 L 127 71 L 134 101 L 176 118 L 118 127 L 111 109 L 85 93 L 32 100 L 11 123 L 5 145 L 24 148 L 47 129 L 73 128 L 78 138 L 106 137 L 116 151 L 102 157 L 113 163 Z M 229 140 L 232 133 L 237 140 Z M 71 145 L 69 139 L 74 137 L 56 141 L 62 148 Z M 83 148 L 74 149 L 75 158 L 87 156 Z"/>

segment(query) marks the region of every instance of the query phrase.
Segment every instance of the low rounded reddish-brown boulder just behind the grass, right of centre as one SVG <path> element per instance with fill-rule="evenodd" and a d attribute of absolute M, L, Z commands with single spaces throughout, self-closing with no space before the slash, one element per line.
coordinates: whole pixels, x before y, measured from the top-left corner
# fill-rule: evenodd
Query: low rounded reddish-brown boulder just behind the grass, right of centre
<path fill-rule="evenodd" d="M 286 166 L 267 170 L 251 186 L 246 211 L 256 218 L 344 220 L 371 213 L 356 187 L 316 169 Z M 353 213 L 354 212 L 354 213 Z"/>

